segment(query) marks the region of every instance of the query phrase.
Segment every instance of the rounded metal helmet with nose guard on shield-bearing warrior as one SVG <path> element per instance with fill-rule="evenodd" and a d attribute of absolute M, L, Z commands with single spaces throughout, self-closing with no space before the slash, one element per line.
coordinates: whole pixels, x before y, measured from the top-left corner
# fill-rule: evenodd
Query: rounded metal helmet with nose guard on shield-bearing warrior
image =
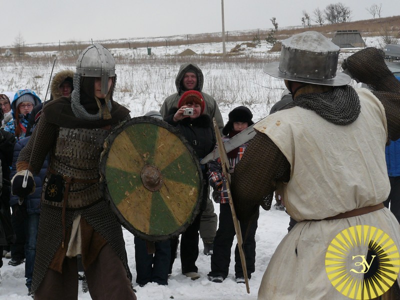
<path fill-rule="evenodd" d="M 115 76 L 115 60 L 111 52 L 99 43 L 84 49 L 76 61 L 76 73 L 86 77 L 101 77 L 101 92 L 108 92 L 108 77 Z"/>

